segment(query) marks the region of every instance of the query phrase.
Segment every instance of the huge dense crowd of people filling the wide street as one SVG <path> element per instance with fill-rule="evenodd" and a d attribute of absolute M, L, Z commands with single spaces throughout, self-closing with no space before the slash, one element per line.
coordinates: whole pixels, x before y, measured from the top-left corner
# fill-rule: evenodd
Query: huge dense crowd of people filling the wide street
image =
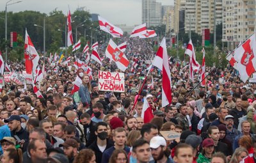
<path fill-rule="evenodd" d="M 122 93 L 99 91 L 98 70 L 121 72 L 103 57 L 107 43 L 99 43 L 102 66 L 90 60 L 76 69 L 76 57 L 85 61 L 84 54 L 73 54 L 68 65 L 40 59 L 46 69 L 44 79 L 36 82 L 41 98 L 32 84 L 5 82 L 1 162 L 256 162 L 256 83 L 241 82 L 229 65 L 207 66 L 201 86 L 200 74 L 189 79 L 186 61 L 170 58 L 172 103 L 162 107 L 161 71 L 148 68 L 155 42 L 122 38 L 119 43 L 124 41 L 130 65 Z M 10 65 L 13 72 L 25 70 L 22 62 Z M 77 76 L 83 83 L 72 93 Z M 144 100 L 154 114 L 149 123 L 141 117 Z M 177 137 L 168 139 L 162 131 Z"/>

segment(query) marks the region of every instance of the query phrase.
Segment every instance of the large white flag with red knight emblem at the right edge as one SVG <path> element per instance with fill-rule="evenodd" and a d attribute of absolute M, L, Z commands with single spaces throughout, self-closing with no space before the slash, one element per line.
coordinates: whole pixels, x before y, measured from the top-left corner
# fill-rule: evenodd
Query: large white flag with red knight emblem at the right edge
<path fill-rule="evenodd" d="M 242 45 L 234 50 L 234 60 L 239 71 L 240 78 L 246 82 L 248 77 L 256 70 L 256 36 L 250 36 Z"/>

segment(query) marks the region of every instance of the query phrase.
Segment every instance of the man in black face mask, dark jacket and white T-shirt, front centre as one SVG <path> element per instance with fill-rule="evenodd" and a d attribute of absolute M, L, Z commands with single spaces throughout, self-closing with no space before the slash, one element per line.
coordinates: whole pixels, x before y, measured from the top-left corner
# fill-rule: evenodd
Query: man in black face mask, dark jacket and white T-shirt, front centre
<path fill-rule="evenodd" d="M 108 124 L 100 121 L 95 125 L 97 139 L 88 147 L 95 152 L 96 162 L 101 162 L 102 153 L 113 146 L 113 142 L 107 139 Z"/>

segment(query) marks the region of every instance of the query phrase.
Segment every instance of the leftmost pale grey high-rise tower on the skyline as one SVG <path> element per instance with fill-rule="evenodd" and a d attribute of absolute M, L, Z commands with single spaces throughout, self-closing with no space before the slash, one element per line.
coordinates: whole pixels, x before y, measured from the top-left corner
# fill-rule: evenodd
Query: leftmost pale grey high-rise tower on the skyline
<path fill-rule="evenodd" d="M 161 25 L 161 3 L 156 0 L 142 0 L 142 23 L 146 23 L 147 27 Z"/>

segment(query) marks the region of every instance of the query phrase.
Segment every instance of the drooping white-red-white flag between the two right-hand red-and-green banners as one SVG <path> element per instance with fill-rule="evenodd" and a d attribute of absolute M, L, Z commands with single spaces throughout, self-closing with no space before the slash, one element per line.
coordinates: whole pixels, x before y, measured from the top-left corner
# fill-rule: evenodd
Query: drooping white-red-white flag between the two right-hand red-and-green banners
<path fill-rule="evenodd" d="M 193 43 L 191 41 L 191 39 L 189 40 L 188 42 L 188 46 L 187 46 L 187 49 L 185 51 L 185 54 L 188 54 L 189 56 L 189 61 L 191 63 L 191 70 L 193 70 L 193 72 L 198 72 L 199 68 L 200 68 L 200 65 L 199 63 L 196 61 L 196 53 L 195 53 L 195 49 L 194 49 L 194 46 L 193 46 Z"/>

